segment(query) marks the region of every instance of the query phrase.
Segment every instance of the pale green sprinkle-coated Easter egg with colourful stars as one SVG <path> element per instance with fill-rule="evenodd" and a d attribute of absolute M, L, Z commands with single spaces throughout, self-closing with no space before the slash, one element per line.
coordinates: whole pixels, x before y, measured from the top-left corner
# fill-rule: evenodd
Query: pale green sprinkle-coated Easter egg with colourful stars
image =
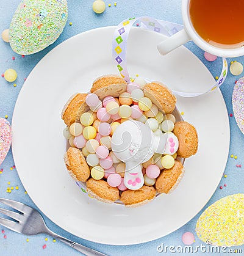
<path fill-rule="evenodd" d="M 10 46 L 18 54 L 37 53 L 57 40 L 67 18 L 66 0 L 23 0 L 10 23 Z"/>

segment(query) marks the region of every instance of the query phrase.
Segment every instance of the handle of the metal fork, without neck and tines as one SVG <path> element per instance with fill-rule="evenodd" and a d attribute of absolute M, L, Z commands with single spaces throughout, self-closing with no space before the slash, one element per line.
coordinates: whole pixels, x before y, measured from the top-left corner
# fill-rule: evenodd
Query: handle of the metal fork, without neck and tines
<path fill-rule="evenodd" d="M 82 254 L 87 256 L 108 256 L 107 254 L 102 254 L 102 252 L 98 252 L 94 249 L 91 249 L 87 246 L 83 246 L 82 244 L 76 243 L 74 241 L 68 240 L 67 238 L 64 238 L 63 236 L 57 235 L 56 233 L 52 232 L 51 230 L 48 230 L 45 232 L 47 235 L 52 236 L 53 238 L 56 238 L 57 240 L 67 244 L 68 246 L 76 249 L 79 252 L 82 252 Z"/>

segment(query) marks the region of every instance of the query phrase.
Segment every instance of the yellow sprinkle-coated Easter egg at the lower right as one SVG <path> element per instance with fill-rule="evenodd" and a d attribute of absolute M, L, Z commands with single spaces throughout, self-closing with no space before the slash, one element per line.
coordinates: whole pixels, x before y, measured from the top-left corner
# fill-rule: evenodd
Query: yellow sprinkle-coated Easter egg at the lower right
<path fill-rule="evenodd" d="M 196 234 L 214 246 L 244 244 L 244 194 L 223 197 L 210 205 L 196 223 Z"/>

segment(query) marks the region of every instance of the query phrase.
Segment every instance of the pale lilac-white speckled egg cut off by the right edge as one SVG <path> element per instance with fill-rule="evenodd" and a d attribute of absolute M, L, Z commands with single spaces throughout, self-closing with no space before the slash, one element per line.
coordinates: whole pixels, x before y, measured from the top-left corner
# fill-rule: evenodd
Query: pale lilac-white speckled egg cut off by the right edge
<path fill-rule="evenodd" d="M 244 134 L 244 77 L 235 84 L 232 93 L 232 106 L 237 125 Z"/>

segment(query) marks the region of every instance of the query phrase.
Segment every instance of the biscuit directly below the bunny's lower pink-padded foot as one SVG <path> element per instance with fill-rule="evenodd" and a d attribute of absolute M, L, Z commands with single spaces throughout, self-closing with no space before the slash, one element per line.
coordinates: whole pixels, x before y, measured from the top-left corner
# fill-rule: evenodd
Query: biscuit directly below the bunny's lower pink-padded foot
<path fill-rule="evenodd" d="M 153 200 L 156 196 L 156 189 L 152 186 L 143 185 L 137 190 L 123 191 L 120 200 L 126 207 L 138 207 Z"/>

